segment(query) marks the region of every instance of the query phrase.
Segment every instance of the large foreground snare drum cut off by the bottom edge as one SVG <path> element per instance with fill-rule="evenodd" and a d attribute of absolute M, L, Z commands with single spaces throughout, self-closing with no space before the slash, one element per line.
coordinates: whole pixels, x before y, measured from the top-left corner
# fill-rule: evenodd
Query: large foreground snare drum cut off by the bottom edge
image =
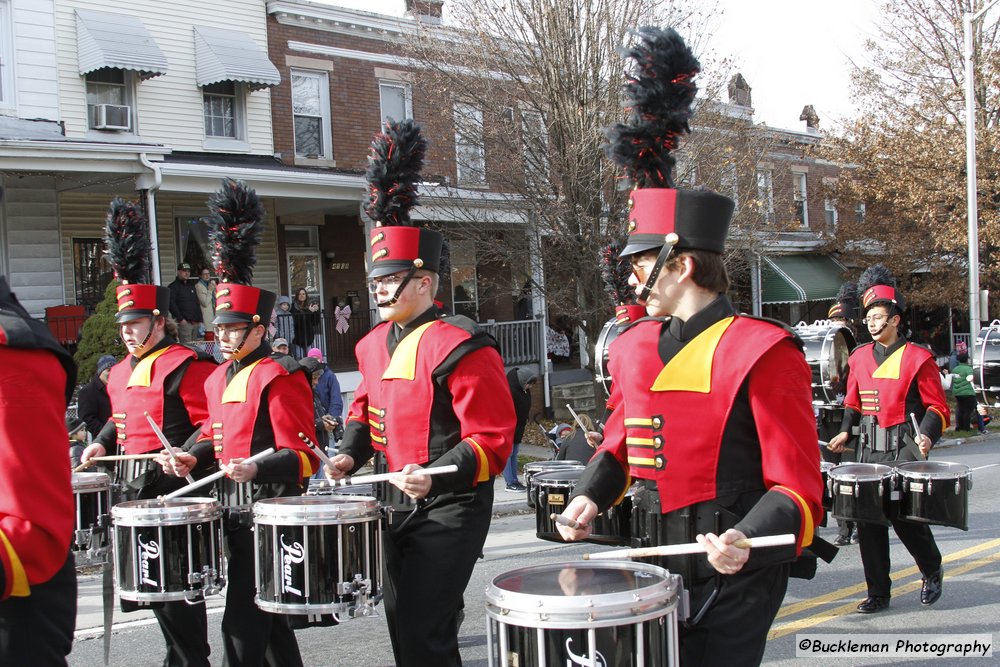
<path fill-rule="evenodd" d="M 679 575 L 648 563 L 551 563 L 486 589 L 490 667 L 676 666 Z"/>

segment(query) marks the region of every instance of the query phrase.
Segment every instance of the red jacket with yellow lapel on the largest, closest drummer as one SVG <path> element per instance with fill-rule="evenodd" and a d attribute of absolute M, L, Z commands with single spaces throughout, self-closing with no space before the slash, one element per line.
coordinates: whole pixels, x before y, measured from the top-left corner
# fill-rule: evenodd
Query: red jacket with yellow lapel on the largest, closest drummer
<path fill-rule="evenodd" d="M 653 480 L 667 514 L 757 492 L 738 530 L 793 533 L 795 555 L 812 543 L 822 518 L 812 373 L 790 331 L 720 296 L 688 322 L 638 321 L 611 345 L 610 369 L 613 412 L 574 495 L 603 511 L 630 477 Z"/>

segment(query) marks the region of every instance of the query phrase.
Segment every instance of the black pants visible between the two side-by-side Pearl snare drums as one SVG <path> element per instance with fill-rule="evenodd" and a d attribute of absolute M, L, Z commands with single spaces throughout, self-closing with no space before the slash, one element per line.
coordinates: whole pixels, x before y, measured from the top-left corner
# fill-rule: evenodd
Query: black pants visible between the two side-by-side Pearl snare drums
<path fill-rule="evenodd" d="M 302 656 L 288 618 L 261 610 L 253 598 L 253 532 L 249 527 L 226 531 L 229 569 L 222 645 L 226 667 L 302 667 Z"/>

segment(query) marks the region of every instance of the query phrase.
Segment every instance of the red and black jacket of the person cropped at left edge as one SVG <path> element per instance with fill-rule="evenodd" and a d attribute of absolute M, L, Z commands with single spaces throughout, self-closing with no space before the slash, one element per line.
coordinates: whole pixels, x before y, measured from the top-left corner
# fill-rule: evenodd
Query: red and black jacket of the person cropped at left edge
<path fill-rule="evenodd" d="M 65 416 L 75 384 L 73 359 L 0 277 L 0 600 L 31 595 L 69 556 Z"/>

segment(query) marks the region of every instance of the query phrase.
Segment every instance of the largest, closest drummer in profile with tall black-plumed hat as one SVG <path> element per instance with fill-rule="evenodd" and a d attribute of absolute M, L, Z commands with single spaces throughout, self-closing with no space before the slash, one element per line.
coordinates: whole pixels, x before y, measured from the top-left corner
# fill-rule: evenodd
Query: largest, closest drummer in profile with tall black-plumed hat
<path fill-rule="evenodd" d="M 559 530 L 582 539 L 639 480 L 649 542 L 697 541 L 707 552 L 658 559 L 690 594 L 681 664 L 759 664 L 790 563 L 822 516 L 811 372 L 790 330 L 737 314 L 725 296 L 734 204 L 675 188 L 663 152 L 688 129 L 699 65 L 673 30 L 638 35 L 630 124 L 609 134 L 612 159 L 637 186 L 622 255 L 648 317 L 610 346 L 614 409 L 563 512 L 583 527 Z M 788 533 L 785 547 L 734 544 Z"/>

